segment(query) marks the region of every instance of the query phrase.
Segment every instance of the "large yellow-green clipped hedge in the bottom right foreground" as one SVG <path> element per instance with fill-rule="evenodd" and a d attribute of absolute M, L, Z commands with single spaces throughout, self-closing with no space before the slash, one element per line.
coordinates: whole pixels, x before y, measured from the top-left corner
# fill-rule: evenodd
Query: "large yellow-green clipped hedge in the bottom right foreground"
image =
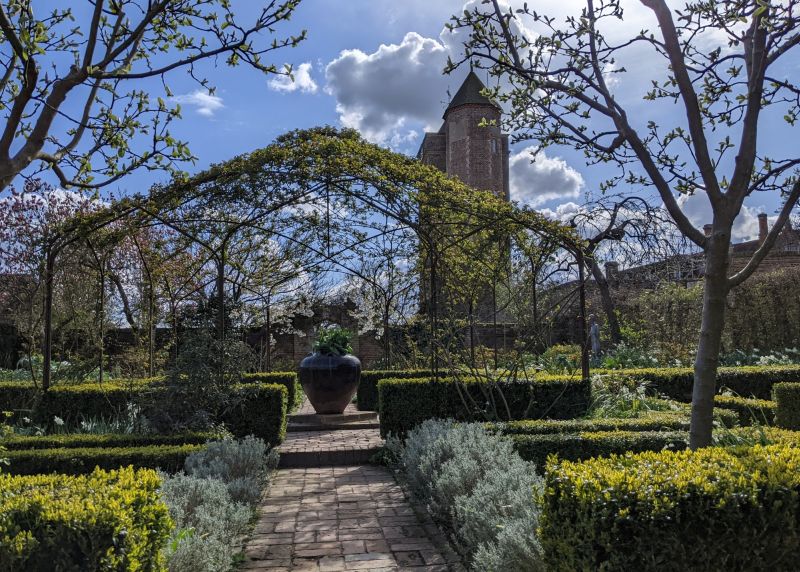
<path fill-rule="evenodd" d="M 549 464 L 548 570 L 797 569 L 800 449 L 647 452 Z"/>

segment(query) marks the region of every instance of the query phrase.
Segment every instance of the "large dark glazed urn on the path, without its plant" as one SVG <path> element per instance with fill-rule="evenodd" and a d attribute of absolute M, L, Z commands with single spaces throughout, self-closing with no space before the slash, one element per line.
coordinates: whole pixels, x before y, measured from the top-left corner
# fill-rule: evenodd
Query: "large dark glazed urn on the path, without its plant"
<path fill-rule="evenodd" d="M 361 379 L 361 362 L 352 354 L 315 352 L 300 362 L 300 384 L 319 414 L 344 413 Z"/>

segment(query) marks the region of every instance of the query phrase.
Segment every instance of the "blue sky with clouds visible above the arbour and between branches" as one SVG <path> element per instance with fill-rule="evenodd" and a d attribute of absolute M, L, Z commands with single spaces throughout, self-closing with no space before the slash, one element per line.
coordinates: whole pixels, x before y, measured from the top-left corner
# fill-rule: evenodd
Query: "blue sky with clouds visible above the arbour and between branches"
<path fill-rule="evenodd" d="M 233 0 L 245 21 L 260 4 Z M 539 0 L 538 4 L 542 11 L 563 15 L 575 13 L 583 2 Z M 623 6 L 628 30 L 654 27 L 638 1 L 623 1 Z M 305 29 L 308 39 L 276 52 L 272 59 L 279 66 L 291 64 L 294 81 L 268 78 L 245 66 L 206 66 L 202 71 L 216 88 L 209 94 L 185 72 L 172 74 L 168 78 L 172 101 L 183 109 L 183 119 L 172 132 L 188 141 L 197 157 L 186 170 L 196 172 L 264 147 L 292 129 L 325 124 L 356 128 L 370 141 L 415 155 L 424 132 L 438 129 L 448 94 L 456 92 L 467 72 L 442 73 L 447 56 L 460 54 L 459 37 L 443 31 L 444 24 L 463 7 L 464 0 L 303 0 L 294 18 L 278 32 L 296 34 Z M 615 95 L 636 111 L 643 105 L 641 95 L 652 70 L 646 61 L 634 61 L 627 70 Z M 157 82 L 142 87 L 166 97 Z M 663 111 L 667 120 L 676 121 L 679 112 L 677 107 Z M 581 154 L 566 148 L 548 149 L 532 163 L 525 144 L 512 147 L 510 170 L 513 199 L 561 218 L 595 194 L 607 176 L 602 167 L 587 166 Z M 112 190 L 143 192 L 164 180 L 163 174 L 140 171 Z M 710 208 L 704 202 L 697 197 L 685 205 L 698 226 L 710 222 Z M 757 235 L 756 214 L 772 215 L 777 206 L 775 197 L 749 200 L 737 221 L 735 238 Z"/>

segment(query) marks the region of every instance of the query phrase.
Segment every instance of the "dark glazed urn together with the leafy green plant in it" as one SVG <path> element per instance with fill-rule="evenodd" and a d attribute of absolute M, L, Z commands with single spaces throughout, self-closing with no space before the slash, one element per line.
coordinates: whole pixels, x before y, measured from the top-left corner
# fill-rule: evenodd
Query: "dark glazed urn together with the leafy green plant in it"
<path fill-rule="evenodd" d="M 313 353 L 300 362 L 300 384 L 317 413 L 344 413 L 358 389 L 361 362 L 350 353 L 352 337 L 342 328 L 322 328 Z"/>

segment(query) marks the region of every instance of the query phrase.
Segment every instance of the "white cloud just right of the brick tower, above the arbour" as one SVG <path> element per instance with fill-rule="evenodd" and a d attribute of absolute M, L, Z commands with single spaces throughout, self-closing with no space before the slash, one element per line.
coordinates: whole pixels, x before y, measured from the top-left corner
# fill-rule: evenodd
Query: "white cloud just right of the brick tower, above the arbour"
<path fill-rule="evenodd" d="M 574 199 L 584 187 L 581 174 L 560 157 L 539 153 L 534 161 L 531 150 L 522 149 L 509 157 L 511 198 L 537 207 L 553 199 Z"/>

